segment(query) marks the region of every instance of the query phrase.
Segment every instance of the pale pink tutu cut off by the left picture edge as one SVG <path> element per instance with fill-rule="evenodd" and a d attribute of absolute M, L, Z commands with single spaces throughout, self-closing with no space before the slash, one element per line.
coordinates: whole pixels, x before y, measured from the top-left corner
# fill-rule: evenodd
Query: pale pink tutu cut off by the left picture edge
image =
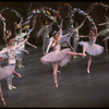
<path fill-rule="evenodd" d="M 10 75 L 12 75 L 12 70 L 0 68 L 0 80 L 9 77 Z"/>

